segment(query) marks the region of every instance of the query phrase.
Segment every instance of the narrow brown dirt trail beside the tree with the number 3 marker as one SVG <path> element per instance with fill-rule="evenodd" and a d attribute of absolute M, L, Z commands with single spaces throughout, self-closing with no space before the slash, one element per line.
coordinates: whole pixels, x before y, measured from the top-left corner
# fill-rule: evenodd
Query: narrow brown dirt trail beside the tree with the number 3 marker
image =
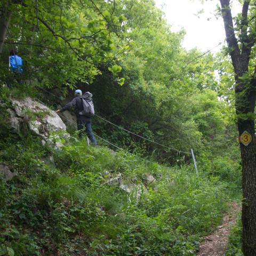
<path fill-rule="evenodd" d="M 222 225 L 205 238 L 205 241 L 200 245 L 197 256 L 224 255 L 231 225 L 235 222 L 239 211 L 241 211 L 241 207 L 236 202 L 230 204 L 230 210 L 223 217 Z"/>

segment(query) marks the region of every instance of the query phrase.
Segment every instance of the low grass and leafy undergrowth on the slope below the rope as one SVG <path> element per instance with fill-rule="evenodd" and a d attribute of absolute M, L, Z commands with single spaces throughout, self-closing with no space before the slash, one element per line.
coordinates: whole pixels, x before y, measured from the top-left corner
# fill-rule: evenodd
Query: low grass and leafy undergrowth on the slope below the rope
<path fill-rule="evenodd" d="M 76 138 L 61 150 L 32 135 L 5 138 L 0 152 L 18 171 L 0 178 L 0 255 L 196 255 L 234 194 L 226 172 L 239 176 L 227 162 L 196 177 L 193 165 L 167 167 Z"/>

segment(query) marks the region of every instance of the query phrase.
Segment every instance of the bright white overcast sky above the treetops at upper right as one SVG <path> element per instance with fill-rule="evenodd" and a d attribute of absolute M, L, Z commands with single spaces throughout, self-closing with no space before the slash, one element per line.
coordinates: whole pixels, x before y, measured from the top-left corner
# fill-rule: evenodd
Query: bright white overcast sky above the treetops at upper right
<path fill-rule="evenodd" d="M 183 46 L 190 50 L 197 47 L 199 50 L 207 51 L 225 41 L 225 30 L 223 20 L 214 17 L 218 0 L 155 0 L 156 6 L 165 13 L 167 22 L 172 25 L 172 31 L 179 31 L 182 27 L 186 30 Z M 241 12 L 242 7 L 238 0 L 233 1 L 232 14 Z M 197 14 L 204 9 L 204 13 Z M 210 20 L 207 20 L 209 19 Z M 212 51 L 217 52 L 221 46 Z"/>

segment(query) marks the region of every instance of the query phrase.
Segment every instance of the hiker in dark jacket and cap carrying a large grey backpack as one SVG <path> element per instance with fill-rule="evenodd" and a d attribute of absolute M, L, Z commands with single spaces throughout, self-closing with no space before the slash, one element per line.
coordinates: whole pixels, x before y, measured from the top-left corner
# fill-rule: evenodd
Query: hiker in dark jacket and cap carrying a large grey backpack
<path fill-rule="evenodd" d="M 84 133 L 87 134 L 93 145 L 98 145 L 93 133 L 91 117 L 94 116 L 94 106 L 92 102 L 92 94 L 85 92 L 82 95 L 81 90 L 75 91 L 75 98 L 67 103 L 63 108 L 58 109 L 56 113 L 61 113 L 65 110 L 74 108 L 76 113 L 76 122 L 78 135 L 81 138 Z"/>

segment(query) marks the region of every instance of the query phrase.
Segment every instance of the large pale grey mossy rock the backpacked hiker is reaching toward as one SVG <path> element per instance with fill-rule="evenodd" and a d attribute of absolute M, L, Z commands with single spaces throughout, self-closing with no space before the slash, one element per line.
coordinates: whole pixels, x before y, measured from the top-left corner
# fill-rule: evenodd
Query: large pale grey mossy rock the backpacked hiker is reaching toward
<path fill-rule="evenodd" d="M 9 124 L 16 132 L 25 126 L 31 132 L 43 139 L 43 143 L 51 142 L 55 148 L 61 147 L 60 137 L 68 138 L 66 125 L 53 110 L 31 98 L 12 100 L 13 109 L 9 109 Z M 51 132 L 59 133 L 50 137 Z"/>

